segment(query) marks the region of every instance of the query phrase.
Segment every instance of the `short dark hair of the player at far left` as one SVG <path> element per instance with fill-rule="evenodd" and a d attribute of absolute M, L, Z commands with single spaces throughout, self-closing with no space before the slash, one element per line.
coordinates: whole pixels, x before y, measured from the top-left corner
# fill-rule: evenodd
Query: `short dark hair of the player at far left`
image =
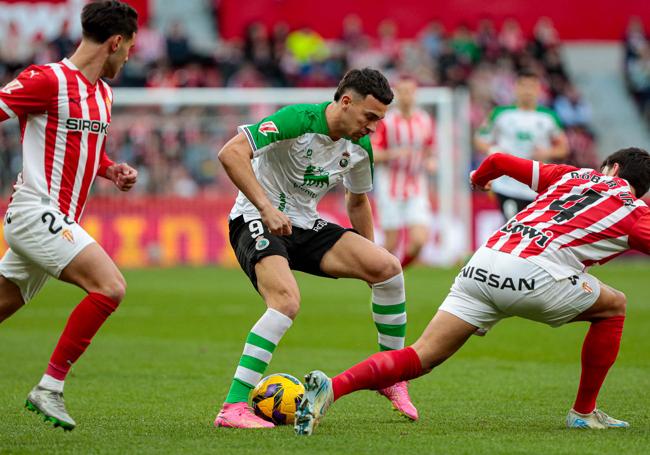
<path fill-rule="evenodd" d="M 81 10 L 81 28 L 84 38 L 100 44 L 113 35 L 129 39 L 138 31 L 138 12 L 115 0 L 88 3 Z"/>

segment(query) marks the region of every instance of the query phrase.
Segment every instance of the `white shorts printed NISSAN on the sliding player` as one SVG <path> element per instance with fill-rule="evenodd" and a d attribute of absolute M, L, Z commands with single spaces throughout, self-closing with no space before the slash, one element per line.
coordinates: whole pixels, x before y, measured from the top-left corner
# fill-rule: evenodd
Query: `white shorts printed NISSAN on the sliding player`
<path fill-rule="evenodd" d="M 439 309 L 482 332 L 511 316 L 558 327 L 591 307 L 599 295 L 600 282 L 588 273 L 556 281 L 524 258 L 481 247 Z"/>

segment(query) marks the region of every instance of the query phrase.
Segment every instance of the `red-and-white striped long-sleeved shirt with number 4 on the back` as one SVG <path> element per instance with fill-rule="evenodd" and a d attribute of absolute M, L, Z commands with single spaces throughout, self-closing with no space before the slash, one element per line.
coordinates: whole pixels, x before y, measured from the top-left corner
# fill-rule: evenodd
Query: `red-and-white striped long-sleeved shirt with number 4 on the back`
<path fill-rule="evenodd" d="M 628 249 L 650 254 L 650 209 L 627 181 L 593 169 L 490 155 L 472 181 L 509 175 L 539 195 L 485 246 L 526 258 L 563 279 Z"/>

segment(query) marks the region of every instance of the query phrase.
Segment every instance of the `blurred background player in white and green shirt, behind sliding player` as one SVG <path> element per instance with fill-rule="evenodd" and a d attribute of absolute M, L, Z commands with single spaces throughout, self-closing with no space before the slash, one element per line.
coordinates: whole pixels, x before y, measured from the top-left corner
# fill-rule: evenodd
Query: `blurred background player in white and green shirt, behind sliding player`
<path fill-rule="evenodd" d="M 515 104 L 497 106 L 477 131 L 474 144 L 479 152 L 509 153 L 543 163 L 561 162 L 569 154 L 569 143 L 555 112 L 538 104 L 541 82 L 536 73 L 522 70 L 517 76 Z M 503 176 L 492 182 L 503 216 L 509 220 L 523 210 L 535 192 Z"/>

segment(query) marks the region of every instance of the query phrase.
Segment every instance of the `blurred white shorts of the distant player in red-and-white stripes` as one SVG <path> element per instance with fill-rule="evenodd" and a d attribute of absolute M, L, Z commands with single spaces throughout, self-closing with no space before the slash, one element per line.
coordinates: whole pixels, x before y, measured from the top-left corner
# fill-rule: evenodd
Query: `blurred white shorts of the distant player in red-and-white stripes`
<path fill-rule="evenodd" d="M 391 198 L 377 194 L 379 223 L 383 230 L 397 230 L 407 226 L 429 226 L 431 205 L 426 194 L 409 199 Z"/>

